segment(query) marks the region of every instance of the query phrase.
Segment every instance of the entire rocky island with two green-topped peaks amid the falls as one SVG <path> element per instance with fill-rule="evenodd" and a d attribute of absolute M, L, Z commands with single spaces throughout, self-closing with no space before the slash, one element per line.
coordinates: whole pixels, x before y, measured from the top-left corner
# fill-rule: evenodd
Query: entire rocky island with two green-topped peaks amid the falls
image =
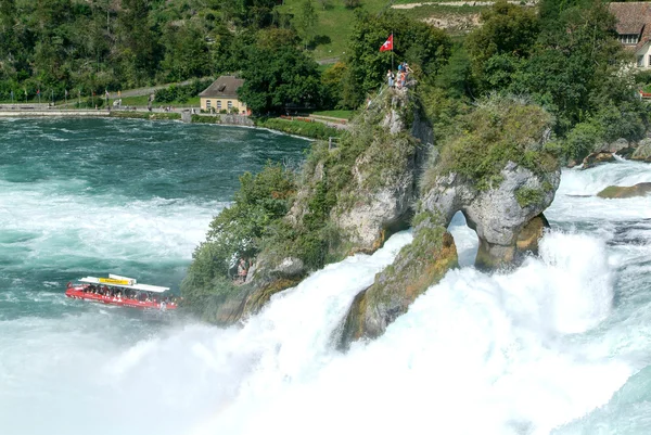
<path fill-rule="evenodd" d="M 340 342 L 374 337 L 447 270 L 447 232 L 463 213 L 480 240 L 476 266 L 513 265 L 535 252 L 560 181 L 547 142 L 551 116 L 493 97 L 437 143 L 414 89 L 384 88 L 335 146 L 316 142 L 301 174 L 269 166 L 242 177 L 234 204 L 215 218 L 183 281 L 187 305 L 231 324 L 328 263 L 372 253 L 394 232 L 413 242 L 355 299 Z M 232 263 L 246 257 L 244 283 Z"/>

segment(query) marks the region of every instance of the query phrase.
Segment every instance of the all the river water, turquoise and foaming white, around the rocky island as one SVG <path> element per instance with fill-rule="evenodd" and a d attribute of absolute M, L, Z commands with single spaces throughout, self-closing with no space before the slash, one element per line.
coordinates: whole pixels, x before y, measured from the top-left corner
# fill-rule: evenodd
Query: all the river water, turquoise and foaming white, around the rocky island
<path fill-rule="evenodd" d="M 565 170 L 539 257 L 461 267 L 376 341 L 332 344 L 355 295 L 409 243 L 392 236 L 229 329 L 67 299 L 119 273 L 178 292 L 238 176 L 297 165 L 265 130 L 112 119 L 0 121 L 0 434 L 651 433 L 651 181 L 617 162 Z"/>

